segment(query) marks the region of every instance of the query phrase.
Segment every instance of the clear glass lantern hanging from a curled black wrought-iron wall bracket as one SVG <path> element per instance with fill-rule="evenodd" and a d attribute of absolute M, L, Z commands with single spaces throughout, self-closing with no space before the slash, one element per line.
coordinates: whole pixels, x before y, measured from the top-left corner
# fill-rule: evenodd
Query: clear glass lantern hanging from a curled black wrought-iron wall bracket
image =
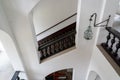
<path fill-rule="evenodd" d="M 84 38 L 86 40 L 90 40 L 93 37 L 92 26 L 91 26 L 91 22 L 93 21 L 93 17 L 94 17 L 94 25 L 93 25 L 94 27 L 107 27 L 111 15 L 109 15 L 108 19 L 106 19 L 106 20 L 104 20 L 104 21 L 102 21 L 100 23 L 96 23 L 97 13 L 93 13 L 90 16 L 90 19 L 89 19 L 89 26 L 88 26 L 87 30 L 85 30 L 85 32 L 84 32 Z M 105 23 L 105 22 L 106 22 L 105 25 L 101 25 L 102 23 Z"/>

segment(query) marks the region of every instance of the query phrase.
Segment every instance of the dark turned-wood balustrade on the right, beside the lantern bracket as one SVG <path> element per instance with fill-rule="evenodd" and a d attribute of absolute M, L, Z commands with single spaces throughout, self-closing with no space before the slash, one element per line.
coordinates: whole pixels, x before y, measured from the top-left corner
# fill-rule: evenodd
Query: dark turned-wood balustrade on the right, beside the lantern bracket
<path fill-rule="evenodd" d="M 107 41 L 101 45 L 120 67 L 120 33 L 111 27 L 106 30 L 109 32 Z"/>

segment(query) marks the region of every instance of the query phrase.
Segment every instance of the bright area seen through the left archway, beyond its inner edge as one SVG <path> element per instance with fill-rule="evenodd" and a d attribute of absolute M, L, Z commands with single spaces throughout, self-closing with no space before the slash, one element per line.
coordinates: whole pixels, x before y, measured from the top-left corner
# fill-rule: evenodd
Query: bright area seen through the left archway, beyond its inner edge
<path fill-rule="evenodd" d="M 0 53 L 0 80 L 11 80 L 14 69 L 7 57 L 3 52 Z"/>

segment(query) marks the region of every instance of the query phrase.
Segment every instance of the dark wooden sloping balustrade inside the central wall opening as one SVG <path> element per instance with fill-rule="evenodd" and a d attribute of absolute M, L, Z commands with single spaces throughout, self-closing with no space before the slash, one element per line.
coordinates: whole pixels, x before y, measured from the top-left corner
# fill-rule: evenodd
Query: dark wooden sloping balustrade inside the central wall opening
<path fill-rule="evenodd" d="M 38 41 L 41 60 L 75 46 L 76 22 Z"/>

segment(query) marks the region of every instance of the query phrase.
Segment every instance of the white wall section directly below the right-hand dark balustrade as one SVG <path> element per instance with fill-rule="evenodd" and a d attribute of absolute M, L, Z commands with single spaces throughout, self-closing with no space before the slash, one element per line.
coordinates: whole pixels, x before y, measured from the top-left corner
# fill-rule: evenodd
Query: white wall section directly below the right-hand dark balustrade
<path fill-rule="evenodd" d="M 102 80 L 120 80 L 120 76 L 97 47 L 93 52 L 88 74 L 90 71 L 98 73 Z"/>

